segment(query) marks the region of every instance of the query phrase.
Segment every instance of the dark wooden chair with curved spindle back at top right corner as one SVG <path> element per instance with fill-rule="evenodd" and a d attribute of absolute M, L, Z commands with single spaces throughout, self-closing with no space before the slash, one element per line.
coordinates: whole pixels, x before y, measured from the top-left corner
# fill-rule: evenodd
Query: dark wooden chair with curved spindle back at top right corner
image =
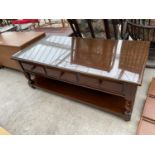
<path fill-rule="evenodd" d="M 133 40 L 150 41 L 147 67 L 154 68 L 155 63 L 155 22 L 149 19 L 127 20 L 127 34 Z"/>

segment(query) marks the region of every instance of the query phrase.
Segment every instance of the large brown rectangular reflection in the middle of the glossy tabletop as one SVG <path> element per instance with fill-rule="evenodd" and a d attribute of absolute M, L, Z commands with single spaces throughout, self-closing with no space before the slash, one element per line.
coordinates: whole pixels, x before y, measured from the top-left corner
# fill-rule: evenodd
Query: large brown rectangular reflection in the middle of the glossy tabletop
<path fill-rule="evenodd" d="M 116 41 L 73 38 L 71 63 L 110 71 L 115 61 Z"/>

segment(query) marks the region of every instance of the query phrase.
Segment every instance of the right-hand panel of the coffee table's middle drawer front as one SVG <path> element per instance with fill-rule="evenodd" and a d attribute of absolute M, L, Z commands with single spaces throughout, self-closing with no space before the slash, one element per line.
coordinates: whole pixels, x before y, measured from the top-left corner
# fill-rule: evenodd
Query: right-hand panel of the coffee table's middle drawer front
<path fill-rule="evenodd" d="M 76 73 L 64 72 L 61 76 L 61 80 L 76 83 L 77 82 Z"/>

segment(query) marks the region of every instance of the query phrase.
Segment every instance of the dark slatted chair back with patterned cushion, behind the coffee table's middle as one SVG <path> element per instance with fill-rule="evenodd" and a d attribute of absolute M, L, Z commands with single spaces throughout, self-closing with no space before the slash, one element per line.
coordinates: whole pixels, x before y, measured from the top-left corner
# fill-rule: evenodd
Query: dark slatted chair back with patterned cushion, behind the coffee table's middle
<path fill-rule="evenodd" d="M 122 39 L 119 19 L 68 19 L 68 22 L 76 37 Z"/>

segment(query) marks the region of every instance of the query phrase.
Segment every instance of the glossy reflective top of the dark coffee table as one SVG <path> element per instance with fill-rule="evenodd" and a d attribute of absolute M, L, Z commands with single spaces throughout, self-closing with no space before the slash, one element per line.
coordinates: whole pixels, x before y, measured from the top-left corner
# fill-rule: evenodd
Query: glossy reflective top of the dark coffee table
<path fill-rule="evenodd" d="M 30 61 L 141 84 L 149 42 L 46 36 L 16 53 L 16 60 Z"/>

